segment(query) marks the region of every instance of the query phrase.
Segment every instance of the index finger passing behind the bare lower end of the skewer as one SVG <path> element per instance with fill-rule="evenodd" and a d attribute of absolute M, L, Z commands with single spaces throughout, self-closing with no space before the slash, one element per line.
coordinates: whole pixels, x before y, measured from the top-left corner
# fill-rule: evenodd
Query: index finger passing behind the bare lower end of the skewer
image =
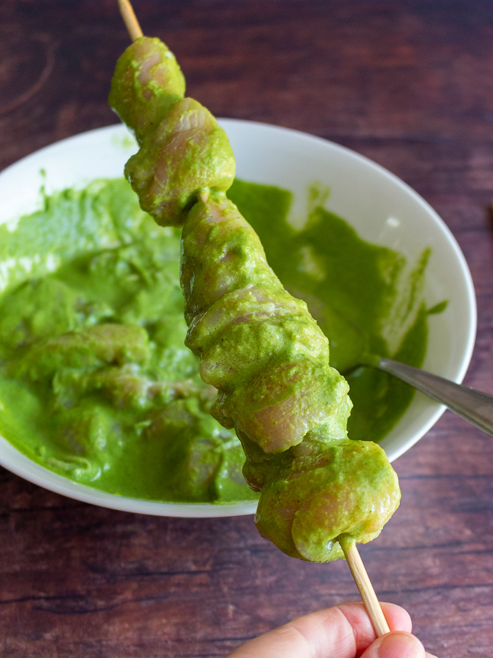
<path fill-rule="evenodd" d="M 403 608 L 383 603 L 382 609 L 392 631 L 411 631 L 411 619 Z M 374 640 L 363 604 L 344 603 L 255 637 L 228 658 L 355 658 Z"/>

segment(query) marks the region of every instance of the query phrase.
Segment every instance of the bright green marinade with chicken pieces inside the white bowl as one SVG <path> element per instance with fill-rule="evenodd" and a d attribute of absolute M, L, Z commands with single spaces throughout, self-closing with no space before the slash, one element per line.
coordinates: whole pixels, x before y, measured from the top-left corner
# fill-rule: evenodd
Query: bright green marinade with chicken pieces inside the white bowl
<path fill-rule="evenodd" d="M 295 230 L 288 191 L 236 181 L 228 195 L 329 337 L 331 365 L 351 386 L 349 436 L 379 441 L 413 391 L 358 364 L 377 352 L 421 365 L 426 254 L 409 270 L 315 197 Z M 124 496 L 257 498 L 184 347 L 178 229 L 156 226 L 127 182 L 112 180 L 46 197 L 14 231 L 0 227 L 0 245 L 3 436 L 55 472 Z"/>

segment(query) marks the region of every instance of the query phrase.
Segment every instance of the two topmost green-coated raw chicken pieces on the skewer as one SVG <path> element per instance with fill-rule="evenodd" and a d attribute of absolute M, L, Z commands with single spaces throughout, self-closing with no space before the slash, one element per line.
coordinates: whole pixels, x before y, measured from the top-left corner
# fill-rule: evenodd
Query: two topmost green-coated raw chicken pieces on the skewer
<path fill-rule="evenodd" d="M 136 40 L 116 64 L 110 105 L 140 144 L 125 174 L 162 226 L 181 226 L 201 190 L 226 191 L 235 175 L 225 132 L 184 93 L 175 56 L 159 39 Z"/>

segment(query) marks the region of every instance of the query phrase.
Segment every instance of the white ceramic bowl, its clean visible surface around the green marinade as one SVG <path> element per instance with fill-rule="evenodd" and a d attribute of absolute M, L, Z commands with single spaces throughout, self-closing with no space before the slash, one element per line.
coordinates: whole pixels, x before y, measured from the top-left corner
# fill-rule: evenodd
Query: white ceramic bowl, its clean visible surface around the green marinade
<path fill-rule="evenodd" d="M 432 248 L 425 300 L 448 300 L 444 313 L 429 322 L 423 367 L 461 382 L 472 355 L 476 302 L 470 271 L 459 245 L 436 212 L 409 186 L 383 167 L 344 147 L 273 125 L 223 119 L 237 162 L 238 178 L 288 188 L 294 215 L 303 214 L 306 191 L 319 181 L 329 186 L 329 209 L 344 217 L 366 240 L 398 249 L 411 262 Z M 136 151 L 123 125 L 92 130 L 41 149 L 0 174 L 0 224 L 40 208 L 47 193 L 83 187 L 97 178 L 116 178 Z M 42 174 L 41 171 L 44 173 Z M 391 221 L 388 221 L 391 219 Z M 396 221 L 397 220 L 397 221 Z M 401 420 L 381 441 L 390 461 L 409 450 L 444 412 L 416 393 Z M 37 485 L 64 496 L 131 512 L 180 517 L 251 514 L 255 502 L 184 504 L 116 496 L 80 485 L 34 463 L 0 437 L 0 463 Z"/>

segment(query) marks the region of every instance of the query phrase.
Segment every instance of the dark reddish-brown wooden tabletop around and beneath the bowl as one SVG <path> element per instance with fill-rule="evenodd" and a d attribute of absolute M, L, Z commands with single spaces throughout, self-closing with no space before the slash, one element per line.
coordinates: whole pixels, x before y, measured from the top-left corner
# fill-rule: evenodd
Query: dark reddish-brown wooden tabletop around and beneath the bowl
<path fill-rule="evenodd" d="M 493 3 L 135 0 L 214 114 L 305 130 L 401 176 L 468 260 L 479 330 L 466 383 L 493 393 Z M 2 0 L 0 169 L 115 123 L 116 0 Z M 396 462 L 401 509 L 362 557 L 440 658 L 493 653 L 493 441 L 446 412 Z M 251 517 L 99 509 L 0 472 L 0 654 L 220 657 L 357 599 L 342 561 L 290 559 Z"/>

